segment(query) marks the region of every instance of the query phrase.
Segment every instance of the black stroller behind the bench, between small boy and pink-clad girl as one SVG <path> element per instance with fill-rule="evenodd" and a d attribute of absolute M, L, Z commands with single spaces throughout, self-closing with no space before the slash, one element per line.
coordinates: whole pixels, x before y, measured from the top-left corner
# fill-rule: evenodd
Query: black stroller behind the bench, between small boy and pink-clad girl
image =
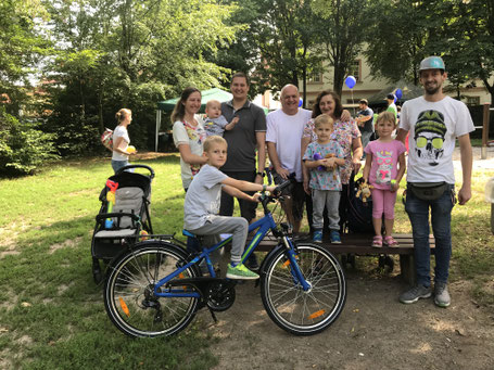
<path fill-rule="evenodd" d="M 369 243 L 373 237 L 373 225 L 372 225 L 372 196 L 369 196 L 364 201 L 363 194 L 358 194 L 358 189 L 364 182 L 364 178 L 355 180 L 355 174 L 352 173 L 349 182 L 347 191 L 347 204 L 346 215 L 344 221 L 345 232 L 351 233 L 363 233 L 369 235 Z M 384 222 L 382 222 L 384 225 Z M 355 266 L 355 256 L 346 255 L 342 257 L 342 264 L 351 264 Z M 383 269 L 389 266 L 390 270 L 393 270 L 394 260 L 388 255 L 381 254 L 379 256 L 379 268 Z"/>

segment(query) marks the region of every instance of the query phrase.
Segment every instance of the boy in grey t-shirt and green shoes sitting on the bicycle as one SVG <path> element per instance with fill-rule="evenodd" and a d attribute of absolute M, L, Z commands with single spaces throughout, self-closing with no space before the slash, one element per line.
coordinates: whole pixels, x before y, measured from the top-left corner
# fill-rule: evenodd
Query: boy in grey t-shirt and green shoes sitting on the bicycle
<path fill-rule="evenodd" d="M 258 279 L 257 273 L 241 264 L 249 222 L 242 217 L 218 216 L 219 202 L 221 190 L 238 199 L 258 202 L 258 193 L 251 196 L 243 191 L 274 191 L 275 187 L 236 180 L 223 174 L 219 168 L 227 160 L 227 142 L 219 136 L 207 137 L 203 155 L 206 164 L 194 176 L 186 194 L 183 228 L 197 235 L 208 237 L 206 244 L 218 242 L 220 233 L 231 233 L 231 261 L 227 278 Z"/>

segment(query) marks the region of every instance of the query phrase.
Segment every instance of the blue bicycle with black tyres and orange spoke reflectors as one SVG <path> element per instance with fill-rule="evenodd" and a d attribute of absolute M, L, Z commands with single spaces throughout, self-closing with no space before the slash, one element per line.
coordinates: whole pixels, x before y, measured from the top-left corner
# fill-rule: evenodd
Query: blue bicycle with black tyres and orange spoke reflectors
<path fill-rule="evenodd" d="M 288 181 L 287 181 L 288 182 Z M 287 182 L 279 186 L 279 194 Z M 265 216 L 250 226 L 257 230 L 245 247 L 242 263 L 270 231 L 278 240 L 259 268 L 261 295 L 269 317 L 281 329 L 312 335 L 327 329 L 341 314 L 346 281 L 338 259 L 319 245 L 294 242 L 288 226 L 275 222 L 268 204 L 276 196 L 263 194 Z M 125 334 L 138 337 L 172 335 L 185 329 L 195 312 L 231 307 L 237 281 L 216 276 L 211 253 L 231 237 L 189 255 L 173 235 L 135 244 L 115 259 L 104 286 L 104 304 L 113 323 Z M 208 276 L 199 264 L 205 260 Z"/>

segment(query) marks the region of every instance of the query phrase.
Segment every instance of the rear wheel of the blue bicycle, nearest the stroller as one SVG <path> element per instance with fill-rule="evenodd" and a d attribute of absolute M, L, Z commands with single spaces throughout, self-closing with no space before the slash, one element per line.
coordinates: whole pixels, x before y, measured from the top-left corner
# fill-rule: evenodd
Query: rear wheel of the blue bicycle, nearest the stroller
<path fill-rule="evenodd" d="M 112 322 L 125 334 L 138 337 L 172 335 L 185 329 L 195 316 L 199 299 L 154 295 L 156 282 L 185 259 L 178 246 L 151 243 L 113 264 L 104 285 L 104 306 Z M 191 266 L 176 279 L 199 275 Z M 161 292 L 165 291 L 162 286 Z"/>

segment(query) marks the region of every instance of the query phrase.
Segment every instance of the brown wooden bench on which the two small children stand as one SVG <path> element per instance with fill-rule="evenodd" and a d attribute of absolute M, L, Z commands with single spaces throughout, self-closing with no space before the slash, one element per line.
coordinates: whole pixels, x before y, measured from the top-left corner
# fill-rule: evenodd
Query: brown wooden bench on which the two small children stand
<path fill-rule="evenodd" d="M 341 235 L 341 244 L 331 244 L 329 240 L 324 240 L 321 246 L 327 248 L 332 254 L 340 255 L 365 255 L 365 256 L 379 256 L 379 255 L 400 255 L 400 270 L 402 278 L 413 284 L 415 282 L 415 266 L 414 266 L 414 239 L 411 234 L 393 234 L 393 238 L 400 243 L 400 246 L 382 246 L 380 248 L 370 246 L 372 234 L 358 234 L 349 233 Z M 302 241 L 302 240 L 301 240 Z M 311 240 L 304 240 L 311 242 Z M 431 254 L 435 251 L 435 241 L 432 235 L 429 237 L 431 246 Z M 278 241 L 274 237 L 264 238 L 256 251 L 269 252 Z"/>

